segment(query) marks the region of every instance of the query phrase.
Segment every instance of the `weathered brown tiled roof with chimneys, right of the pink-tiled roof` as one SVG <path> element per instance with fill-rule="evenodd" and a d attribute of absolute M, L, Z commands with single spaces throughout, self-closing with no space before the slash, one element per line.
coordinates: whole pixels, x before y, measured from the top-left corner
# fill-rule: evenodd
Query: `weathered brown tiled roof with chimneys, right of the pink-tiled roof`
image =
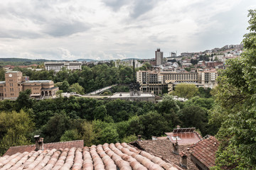
<path fill-rule="evenodd" d="M 174 147 L 171 144 L 170 140 L 143 140 L 132 142 L 132 145 L 142 149 L 149 154 L 154 154 L 155 156 L 161 157 L 166 162 L 171 162 L 174 164 L 177 169 L 185 169 L 180 165 L 181 156 L 178 154 L 174 154 Z M 183 149 L 187 149 L 190 145 L 181 145 L 178 146 L 178 150 L 182 151 Z M 191 161 L 190 154 L 187 156 L 187 169 L 190 170 L 198 170 L 195 164 Z"/>

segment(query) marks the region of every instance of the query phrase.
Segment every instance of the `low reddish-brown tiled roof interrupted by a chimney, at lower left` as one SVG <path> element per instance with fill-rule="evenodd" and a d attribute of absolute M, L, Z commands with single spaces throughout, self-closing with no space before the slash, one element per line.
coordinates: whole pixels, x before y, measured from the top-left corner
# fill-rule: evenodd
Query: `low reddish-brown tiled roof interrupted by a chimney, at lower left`
<path fill-rule="evenodd" d="M 44 149 L 65 149 L 65 148 L 72 148 L 72 147 L 83 147 L 84 142 L 83 140 L 73 140 L 73 141 L 68 141 L 68 142 L 54 142 L 54 143 L 45 143 L 43 144 Z M 13 155 L 18 152 L 23 153 L 23 152 L 32 152 L 33 150 L 36 149 L 36 145 L 23 145 L 23 146 L 17 146 L 17 147 L 10 147 L 5 155 Z"/>

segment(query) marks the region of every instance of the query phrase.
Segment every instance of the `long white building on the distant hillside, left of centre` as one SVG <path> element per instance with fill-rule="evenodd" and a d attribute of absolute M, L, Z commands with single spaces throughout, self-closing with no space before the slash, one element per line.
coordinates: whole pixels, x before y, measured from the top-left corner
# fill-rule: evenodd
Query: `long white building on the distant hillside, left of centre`
<path fill-rule="evenodd" d="M 44 65 L 48 71 L 54 70 L 54 72 L 60 72 L 63 67 L 82 70 L 82 62 L 45 62 Z"/>

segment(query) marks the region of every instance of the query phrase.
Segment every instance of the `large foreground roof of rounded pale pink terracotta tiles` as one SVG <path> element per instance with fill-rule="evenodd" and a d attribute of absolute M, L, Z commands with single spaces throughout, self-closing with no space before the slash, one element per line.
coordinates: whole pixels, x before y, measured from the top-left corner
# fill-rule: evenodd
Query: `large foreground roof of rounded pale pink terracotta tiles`
<path fill-rule="evenodd" d="M 163 161 L 127 143 L 92 145 L 66 149 L 45 149 L 0 157 L 0 169 L 86 169 L 102 170 L 177 170 Z"/>

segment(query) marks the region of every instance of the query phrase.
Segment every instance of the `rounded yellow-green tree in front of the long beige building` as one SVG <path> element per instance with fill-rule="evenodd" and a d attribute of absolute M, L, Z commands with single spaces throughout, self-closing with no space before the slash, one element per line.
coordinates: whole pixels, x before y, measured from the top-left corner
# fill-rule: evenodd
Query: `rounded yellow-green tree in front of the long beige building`
<path fill-rule="evenodd" d="M 173 94 L 178 97 L 192 98 L 198 94 L 198 88 L 195 84 L 177 84 Z"/>

